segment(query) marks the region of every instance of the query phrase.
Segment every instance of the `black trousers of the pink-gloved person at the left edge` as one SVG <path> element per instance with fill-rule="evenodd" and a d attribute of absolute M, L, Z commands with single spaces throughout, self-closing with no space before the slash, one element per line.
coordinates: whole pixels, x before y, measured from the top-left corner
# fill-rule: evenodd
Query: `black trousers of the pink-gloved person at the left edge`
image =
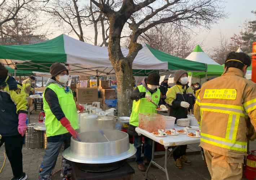
<path fill-rule="evenodd" d="M 5 153 L 12 167 L 13 176 L 17 178 L 23 173 L 22 167 L 22 143 L 23 138 L 20 134 L 16 136 L 5 136 L 0 140 L 0 147 L 4 143 Z"/>

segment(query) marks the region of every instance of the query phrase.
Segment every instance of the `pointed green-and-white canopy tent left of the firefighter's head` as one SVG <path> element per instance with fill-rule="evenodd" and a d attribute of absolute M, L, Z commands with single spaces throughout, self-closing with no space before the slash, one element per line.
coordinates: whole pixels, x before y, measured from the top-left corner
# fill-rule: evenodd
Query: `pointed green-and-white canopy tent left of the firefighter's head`
<path fill-rule="evenodd" d="M 213 59 L 211 59 L 203 50 L 202 48 L 197 45 L 195 49 L 190 53 L 188 57 L 186 57 L 188 60 L 196 61 L 196 62 L 201 62 L 201 63 L 206 63 L 207 64 L 207 76 L 221 76 L 222 73 L 224 72 L 223 67 L 216 63 Z M 191 74 L 190 74 L 191 75 Z M 192 73 L 192 80 L 191 82 L 199 82 L 202 84 L 205 82 L 205 73 L 202 72 L 193 72 Z"/>

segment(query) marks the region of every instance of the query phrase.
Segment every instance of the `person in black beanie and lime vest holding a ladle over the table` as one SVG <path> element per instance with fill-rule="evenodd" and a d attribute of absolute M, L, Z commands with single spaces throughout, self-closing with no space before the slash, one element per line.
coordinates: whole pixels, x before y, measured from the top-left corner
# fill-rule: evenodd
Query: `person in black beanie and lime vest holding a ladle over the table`
<path fill-rule="evenodd" d="M 146 136 L 139 136 L 135 131 L 135 128 L 138 127 L 139 113 L 157 113 L 155 110 L 156 106 L 150 101 L 160 105 L 160 108 L 166 108 L 165 105 L 162 105 L 162 101 L 160 99 L 160 90 L 157 88 L 157 86 L 159 86 L 159 80 L 160 76 L 158 73 L 149 74 L 149 76 L 142 81 L 142 85 L 137 86 L 130 96 L 133 100 L 133 105 L 127 133 L 134 136 L 134 146 L 137 148 L 135 161 L 140 171 L 146 171 L 146 168 L 143 165 L 143 158 L 141 157 L 142 137 L 145 138 L 144 157 L 146 158 L 145 165 L 147 166 L 152 159 L 153 141 Z M 158 168 L 153 164 L 151 167 Z"/>

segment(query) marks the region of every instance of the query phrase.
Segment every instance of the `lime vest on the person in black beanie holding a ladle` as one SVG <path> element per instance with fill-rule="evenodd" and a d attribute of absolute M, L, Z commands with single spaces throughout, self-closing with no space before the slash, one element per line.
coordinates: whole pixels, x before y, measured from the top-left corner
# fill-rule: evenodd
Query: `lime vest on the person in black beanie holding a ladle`
<path fill-rule="evenodd" d="M 146 92 L 147 94 L 151 95 L 153 102 L 158 104 L 160 100 L 159 89 L 157 89 L 155 93 L 151 94 L 149 90 L 147 90 L 143 85 L 137 86 L 136 88 L 138 88 L 140 92 Z M 138 127 L 138 114 L 139 113 L 157 113 L 155 108 L 156 106 L 151 102 L 147 102 L 146 98 L 141 98 L 138 101 L 133 100 L 132 114 L 131 114 L 129 123 L 133 126 Z"/>

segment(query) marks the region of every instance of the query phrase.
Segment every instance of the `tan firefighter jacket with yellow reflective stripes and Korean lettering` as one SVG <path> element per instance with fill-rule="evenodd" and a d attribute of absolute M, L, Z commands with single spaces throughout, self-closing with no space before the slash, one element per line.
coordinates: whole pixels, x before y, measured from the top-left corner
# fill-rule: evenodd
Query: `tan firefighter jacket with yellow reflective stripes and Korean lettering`
<path fill-rule="evenodd" d="M 256 127 L 256 84 L 237 68 L 205 82 L 194 115 L 201 127 L 200 146 L 230 157 L 247 152 L 247 119 Z M 247 115 L 248 114 L 248 115 Z"/>

